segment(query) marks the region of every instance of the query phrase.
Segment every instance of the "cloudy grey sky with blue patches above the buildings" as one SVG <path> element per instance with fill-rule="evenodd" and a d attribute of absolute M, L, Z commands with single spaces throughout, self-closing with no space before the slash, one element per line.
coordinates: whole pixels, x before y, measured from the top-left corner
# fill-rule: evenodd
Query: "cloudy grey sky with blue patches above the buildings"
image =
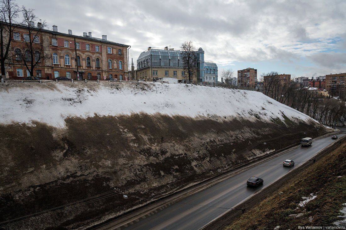
<path fill-rule="evenodd" d="M 346 1 L 17 0 L 48 29 L 92 32 L 130 45 L 179 48 L 185 40 L 222 69 L 296 76 L 346 72 Z"/>

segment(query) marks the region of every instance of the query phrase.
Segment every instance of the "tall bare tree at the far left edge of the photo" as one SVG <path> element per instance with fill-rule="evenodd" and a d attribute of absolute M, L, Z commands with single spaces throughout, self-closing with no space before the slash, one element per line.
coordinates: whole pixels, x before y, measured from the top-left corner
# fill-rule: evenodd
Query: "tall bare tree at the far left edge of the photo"
<path fill-rule="evenodd" d="M 0 4 L 0 63 L 2 78 L 6 79 L 5 64 L 11 56 L 11 41 L 20 9 L 14 0 L 1 0 Z"/>

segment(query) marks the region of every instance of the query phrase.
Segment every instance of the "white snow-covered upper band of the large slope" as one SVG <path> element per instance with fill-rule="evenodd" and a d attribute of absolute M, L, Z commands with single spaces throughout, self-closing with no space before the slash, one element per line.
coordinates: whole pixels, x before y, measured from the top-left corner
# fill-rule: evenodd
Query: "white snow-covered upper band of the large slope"
<path fill-rule="evenodd" d="M 313 121 L 262 93 L 185 84 L 45 82 L 0 84 L 0 123 L 40 121 L 64 127 L 66 117 L 131 113 L 231 119 Z"/>

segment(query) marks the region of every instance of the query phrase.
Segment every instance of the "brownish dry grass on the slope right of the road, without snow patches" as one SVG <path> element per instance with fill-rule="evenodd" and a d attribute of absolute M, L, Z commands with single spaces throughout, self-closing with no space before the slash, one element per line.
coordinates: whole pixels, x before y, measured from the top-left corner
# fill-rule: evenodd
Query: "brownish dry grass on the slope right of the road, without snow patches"
<path fill-rule="evenodd" d="M 346 202 L 346 142 L 285 184 L 226 229 L 272 230 L 280 226 L 280 229 L 293 230 L 298 226 L 333 225 Z M 311 193 L 317 197 L 297 209 L 302 197 Z M 303 215 L 289 216 L 298 213 Z"/>

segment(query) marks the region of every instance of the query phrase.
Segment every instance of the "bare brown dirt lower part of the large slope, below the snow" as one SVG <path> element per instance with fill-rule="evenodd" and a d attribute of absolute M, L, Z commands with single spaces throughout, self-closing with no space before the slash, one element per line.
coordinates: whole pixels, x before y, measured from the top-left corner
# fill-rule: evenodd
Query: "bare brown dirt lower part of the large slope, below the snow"
<path fill-rule="evenodd" d="M 218 169 L 326 133 L 316 123 L 288 118 L 218 122 L 134 114 L 65 121 L 66 128 L 0 125 L 3 229 L 82 228 L 210 178 Z"/>

